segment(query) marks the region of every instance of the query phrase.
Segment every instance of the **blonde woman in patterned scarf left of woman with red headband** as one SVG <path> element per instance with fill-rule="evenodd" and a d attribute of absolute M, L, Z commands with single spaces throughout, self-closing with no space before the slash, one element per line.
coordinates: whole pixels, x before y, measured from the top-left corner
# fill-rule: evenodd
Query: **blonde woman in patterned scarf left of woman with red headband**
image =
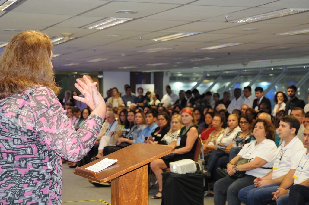
<path fill-rule="evenodd" d="M 159 114 L 161 115 L 161 114 Z M 180 115 L 173 115 L 171 119 L 171 129 L 162 137 L 158 144 L 166 144 L 176 147 L 176 141 L 180 135 L 180 129 L 184 126 Z M 155 144 L 153 140 L 147 140 L 147 143 Z"/>

